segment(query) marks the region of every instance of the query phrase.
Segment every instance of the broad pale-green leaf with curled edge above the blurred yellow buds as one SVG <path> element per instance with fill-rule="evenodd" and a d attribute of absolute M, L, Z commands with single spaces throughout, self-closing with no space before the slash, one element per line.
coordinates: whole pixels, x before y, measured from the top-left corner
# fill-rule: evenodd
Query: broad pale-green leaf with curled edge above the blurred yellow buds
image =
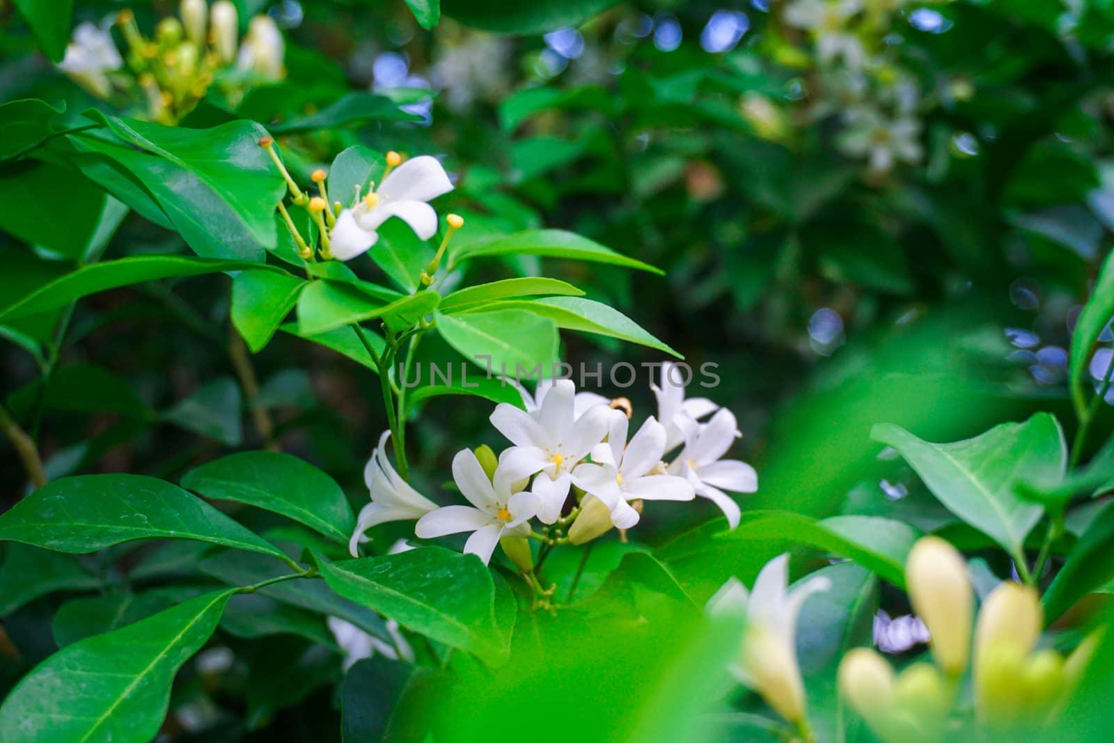
<path fill-rule="evenodd" d="M 876 426 L 871 438 L 897 449 L 948 510 L 1016 559 L 1043 509 L 1020 499 L 1015 487 L 1058 482 L 1067 467 L 1064 433 L 1048 413 L 955 443 L 929 443 L 891 424 Z"/>

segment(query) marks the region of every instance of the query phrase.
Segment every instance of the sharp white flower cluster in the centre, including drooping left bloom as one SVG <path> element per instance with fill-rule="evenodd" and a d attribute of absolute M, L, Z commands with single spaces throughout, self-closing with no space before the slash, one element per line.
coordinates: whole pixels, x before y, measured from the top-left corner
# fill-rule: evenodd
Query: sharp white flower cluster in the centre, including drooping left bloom
<path fill-rule="evenodd" d="M 711 400 L 685 399 L 681 377 L 673 364 L 662 364 L 661 387 L 651 388 L 658 416 L 647 418 L 629 440 L 627 414 L 602 395 L 577 393 L 569 380 L 543 380 L 532 395 L 519 388 L 525 410 L 500 403 L 491 413 L 491 423 L 514 446 L 490 476 L 470 449 L 452 460 L 453 480 L 470 506 L 439 508 L 414 490 L 387 459 L 384 432 L 364 471 L 371 502 L 360 511 L 352 555 L 372 526 L 418 519 L 414 534 L 423 539 L 472 532 L 465 551 L 487 563 L 500 538 L 530 536 L 532 519 L 557 522 L 574 486 L 584 493 L 582 514 L 586 501 L 597 499 L 616 528 L 638 522 L 639 501 L 696 496 L 719 506 L 734 528 L 740 508 L 724 491 L 754 492 L 758 475 L 745 462 L 722 459 L 740 436 L 735 417 Z M 678 447 L 681 453 L 666 462 Z"/>

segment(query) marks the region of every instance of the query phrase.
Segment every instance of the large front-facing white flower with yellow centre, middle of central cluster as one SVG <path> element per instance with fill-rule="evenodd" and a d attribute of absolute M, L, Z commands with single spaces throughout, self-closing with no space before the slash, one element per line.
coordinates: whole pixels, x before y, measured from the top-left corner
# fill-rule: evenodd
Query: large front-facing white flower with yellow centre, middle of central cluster
<path fill-rule="evenodd" d="M 568 497 L 569 473 L 592 448 L 604 440 L 615 412 L 594 405 L 576 416 L 576 388 L 557 380 L 546 392 L 536 413 L 501 402 L 491 413 L 491 424 L 515 446 L 499 456 L 499 468 L 516 482 L 535 472 L 532 491 L 538 496 L 538 518 L 553 524 L 560 518 Z"/>

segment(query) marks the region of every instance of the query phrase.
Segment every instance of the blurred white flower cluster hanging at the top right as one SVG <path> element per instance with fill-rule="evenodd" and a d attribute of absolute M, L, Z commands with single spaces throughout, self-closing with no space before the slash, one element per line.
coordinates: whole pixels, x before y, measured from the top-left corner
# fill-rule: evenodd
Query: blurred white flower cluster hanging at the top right
<path fill-rule="evenodd" d="M 924 157 L 920 92 L 883 43 L 905 0 L 793 0 L 784 21 L 812 39 L 820 80 L 818 117 L 838 114 L 844 128 L 836 146 L 882 176 Z M 873 51 L 878 50 L 878 51 Z"/>

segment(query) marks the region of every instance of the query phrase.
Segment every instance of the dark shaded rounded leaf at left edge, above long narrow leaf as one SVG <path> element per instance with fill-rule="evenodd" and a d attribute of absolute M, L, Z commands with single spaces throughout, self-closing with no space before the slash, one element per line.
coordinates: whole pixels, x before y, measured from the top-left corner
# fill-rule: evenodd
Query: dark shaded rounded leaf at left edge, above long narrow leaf
<path fill-rule="evenodd" d="M 65 219 L 58 218 L 61 187 L 66 189 Z M 100 222 L 105 193 L 70 168 L 18 163 L 0 172 L 0 203 L 8 205 L 0 209 L 0 229 L 28 245 L 78 260 Z"/>

